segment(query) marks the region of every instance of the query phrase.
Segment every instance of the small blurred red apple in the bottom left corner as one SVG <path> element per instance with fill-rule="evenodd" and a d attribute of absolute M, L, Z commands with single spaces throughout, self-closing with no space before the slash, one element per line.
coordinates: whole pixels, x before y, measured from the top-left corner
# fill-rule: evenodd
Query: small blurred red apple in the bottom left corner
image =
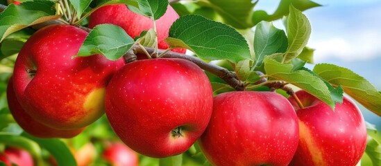
<path fill-rule="evenodd" d="M 0 161 L 8 166 L 22 165 L 22 166 L 33 166 L 33 158 L 28 151 L 23 149 L 16 149 L 7 147 L 3 153 L 0 153 Z"/>

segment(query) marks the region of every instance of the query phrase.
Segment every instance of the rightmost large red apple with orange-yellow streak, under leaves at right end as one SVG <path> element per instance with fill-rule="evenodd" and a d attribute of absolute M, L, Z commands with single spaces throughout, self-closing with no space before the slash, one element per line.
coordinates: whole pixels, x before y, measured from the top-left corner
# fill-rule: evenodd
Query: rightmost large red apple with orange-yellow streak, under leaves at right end
<path fill-rule="evenodd" d="M 310 93 L 298 91 L 300 109 L 289 101 L 299 118 L 300 140 L 292 165 L 356 165 L 366 147 L 366 127 L 354 102 L 344 97 L 335 112 Z"/>

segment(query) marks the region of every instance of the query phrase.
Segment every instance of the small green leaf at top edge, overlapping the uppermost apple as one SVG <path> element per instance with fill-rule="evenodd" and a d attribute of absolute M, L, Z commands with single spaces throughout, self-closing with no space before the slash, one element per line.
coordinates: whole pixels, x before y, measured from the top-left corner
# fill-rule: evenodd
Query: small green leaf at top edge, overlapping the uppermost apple
<path fill-rule="evenodd" d="M 138 6 L 128 6 L 132 12 L 157 20 L 167 11 L 168 0 L 139 0 Z"/>

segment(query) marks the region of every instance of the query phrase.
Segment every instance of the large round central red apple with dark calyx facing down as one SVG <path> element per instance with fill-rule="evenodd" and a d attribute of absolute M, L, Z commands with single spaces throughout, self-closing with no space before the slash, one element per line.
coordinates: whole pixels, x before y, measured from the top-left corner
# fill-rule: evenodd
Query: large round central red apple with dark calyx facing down
<path fill-rule="evenodd" d="M 208 125 L 212 104 L 212 87 L 201 68 L 184 59 L 146 59 L 115 73 L 105 112 L 128 147 L 163 158 L 193 145 Z"/>

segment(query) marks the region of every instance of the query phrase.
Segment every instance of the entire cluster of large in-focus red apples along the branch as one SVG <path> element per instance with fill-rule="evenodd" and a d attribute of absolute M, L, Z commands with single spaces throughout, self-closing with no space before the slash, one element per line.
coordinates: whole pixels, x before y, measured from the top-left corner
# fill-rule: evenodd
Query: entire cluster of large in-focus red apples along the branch
<path fill-rule="evenodd" d="M 158 48 L 169 47 L 164 38 L 176 19 L 171 6 L 158 19 Z M 89 27 L 99 24 L 131 37 L 152 27 L 124 5 L 92 13 Z M 204 71 L 184 59 L 73 58 L 86 36 L 74 26 L 48 26 L 20 51 L 8 104 L 31 135 L 71 138 L 105 112 L 128 147 L 155 158 L 181 154 L 196 140 L 213 165 L 356 165 L 364 153 L 364 118 L 348 98 L 332 111 L 305 91 L 296 93 L 304 108 L 274 92 L 213 97 Z"/>

